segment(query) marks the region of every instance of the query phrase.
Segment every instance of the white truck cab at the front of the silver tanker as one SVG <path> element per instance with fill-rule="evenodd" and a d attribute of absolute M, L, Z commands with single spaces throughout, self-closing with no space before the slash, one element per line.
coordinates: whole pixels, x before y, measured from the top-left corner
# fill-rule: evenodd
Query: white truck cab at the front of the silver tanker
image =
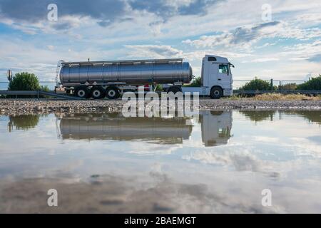
<path fill-rule="evenodd" d="M 195 93 L 219 99 L 233 95 L 233 75 L 230 67 L 234 67 L 228 58 L 206 55 L 202 61 L 200 87 L 182 87 L 182 92 Z"/>

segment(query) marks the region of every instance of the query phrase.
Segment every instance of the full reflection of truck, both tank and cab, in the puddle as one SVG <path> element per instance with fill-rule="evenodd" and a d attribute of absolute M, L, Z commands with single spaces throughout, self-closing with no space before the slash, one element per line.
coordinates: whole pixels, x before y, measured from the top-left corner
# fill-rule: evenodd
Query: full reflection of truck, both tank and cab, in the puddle
<path fill-rule="evenodd" d="M 115 114 L 63 114 L 57 116 L 58 135 L 63 140 L 143 140 L 180 144 L 188 140 L 195 125 L 185 118 L 124 118 Z M 228 143 L 232 111 L 200 111 L 205 146 Z M 199 123 L 195 123 L 198 125 Z"/>

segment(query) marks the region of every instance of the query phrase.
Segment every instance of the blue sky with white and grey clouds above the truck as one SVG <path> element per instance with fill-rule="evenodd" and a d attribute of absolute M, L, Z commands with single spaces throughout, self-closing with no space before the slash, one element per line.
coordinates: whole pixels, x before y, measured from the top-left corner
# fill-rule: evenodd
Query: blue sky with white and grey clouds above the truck
<path fill-rule="evenodd" d="M 0 0 L 0 81 L 54 81 L 59 60 L 88 58 L 185 58 L 200 76 L 205 54 L 229 58 L 234 80 L 317 76 L 321 1 Z"/>

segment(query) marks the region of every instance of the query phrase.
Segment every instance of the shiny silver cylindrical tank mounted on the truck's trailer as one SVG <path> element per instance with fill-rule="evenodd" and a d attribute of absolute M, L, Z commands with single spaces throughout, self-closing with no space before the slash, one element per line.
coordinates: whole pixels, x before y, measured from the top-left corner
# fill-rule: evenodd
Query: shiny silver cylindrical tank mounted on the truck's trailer
<path fill-rule="evenodd" d="M 62 84 L 65 83 L 110 83 L 122 82 L 130 85 L 146 83 L 190 83 L 193 77 L 188 62 L 155 63 L 101 63 L 63 64 L 59 71 Z"/>

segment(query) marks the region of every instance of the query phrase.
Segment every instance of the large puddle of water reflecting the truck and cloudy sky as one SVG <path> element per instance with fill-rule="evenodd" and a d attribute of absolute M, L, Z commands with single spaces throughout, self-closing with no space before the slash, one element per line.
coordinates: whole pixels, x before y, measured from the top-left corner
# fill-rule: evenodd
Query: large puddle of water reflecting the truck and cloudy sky
<path fill-rule="evenodd" d="M 0 212 L 321 212 L 320 111 L 0 116 L 0 135 Z"/>

